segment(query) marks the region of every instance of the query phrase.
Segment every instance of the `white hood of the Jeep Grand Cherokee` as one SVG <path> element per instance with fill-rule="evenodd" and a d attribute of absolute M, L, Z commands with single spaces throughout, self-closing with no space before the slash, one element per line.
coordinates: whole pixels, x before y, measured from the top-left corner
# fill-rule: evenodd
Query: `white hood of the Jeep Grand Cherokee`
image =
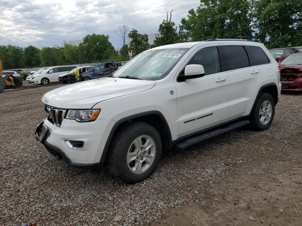
<path fill-rule="evenodd" d="M 90 109 L 98 102 L 151 89 L 155 81 L 103 77 L 47 92 L 42 102 L 57 108 Z"/>

